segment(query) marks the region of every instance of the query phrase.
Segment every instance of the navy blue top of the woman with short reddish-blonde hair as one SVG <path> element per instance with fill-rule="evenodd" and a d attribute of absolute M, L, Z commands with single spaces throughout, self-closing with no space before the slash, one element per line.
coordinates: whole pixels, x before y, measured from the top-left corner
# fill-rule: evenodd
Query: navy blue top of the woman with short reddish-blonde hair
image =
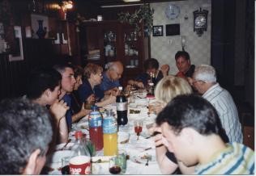
<path fill-rule="evenodd" d="M 100 99 L 104 97 L 104 91 L 100 90 L 100 86 L 94 86 L 92 89 L 92 86 L 87 79 L 84 79 L 83 84 L 79 86 L 78 93 L 79 93 L 79 100 L 82 103 L 84 103 L 91 94 L 95 94 L 96 96 L 95 98 L 98 101 L 100 101 Z"/>

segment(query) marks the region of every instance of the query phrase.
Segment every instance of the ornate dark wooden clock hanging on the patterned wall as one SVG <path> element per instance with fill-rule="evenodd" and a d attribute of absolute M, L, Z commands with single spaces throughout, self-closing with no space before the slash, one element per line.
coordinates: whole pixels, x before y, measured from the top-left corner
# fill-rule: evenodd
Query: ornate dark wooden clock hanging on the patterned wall
<path fill-rule="evenodd" d="M 195 10 L 194 14 L 194 31 L 198 36 L 202 36 L 203 31 L 207 31 L 208 10 Z"/>

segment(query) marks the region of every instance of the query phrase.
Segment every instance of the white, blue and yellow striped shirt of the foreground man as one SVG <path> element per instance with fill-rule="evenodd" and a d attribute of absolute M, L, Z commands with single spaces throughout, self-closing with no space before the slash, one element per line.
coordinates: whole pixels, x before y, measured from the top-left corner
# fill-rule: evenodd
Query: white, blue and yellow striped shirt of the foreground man
<path fill-rule="evenodd" d="M 254 174 L 254 151 L 245 145 L 229 143 L 215 153 L 213 160 L 194 169 L 195 174 Z"/>

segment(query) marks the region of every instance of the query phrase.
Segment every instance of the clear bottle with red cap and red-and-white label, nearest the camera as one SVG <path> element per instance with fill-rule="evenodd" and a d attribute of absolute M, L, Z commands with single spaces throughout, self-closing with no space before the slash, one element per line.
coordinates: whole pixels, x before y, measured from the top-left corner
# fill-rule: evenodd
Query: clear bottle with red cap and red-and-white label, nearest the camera
<path fill-rule="evenodd" d="M 83 142 L 83 133 L 75 132 L 75 144 L 70 158 L 70 174 L 91 174 L 91 156 Z"/>

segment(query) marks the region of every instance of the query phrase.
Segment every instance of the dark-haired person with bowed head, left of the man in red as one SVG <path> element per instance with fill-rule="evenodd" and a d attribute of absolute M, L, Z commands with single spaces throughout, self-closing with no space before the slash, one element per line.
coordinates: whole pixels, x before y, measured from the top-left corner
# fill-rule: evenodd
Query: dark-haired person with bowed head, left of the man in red
<path fill-rule="evenodd" d="M 146 72 L 139 74 L 134 80 L 129 80 L 128 85 L 144 88 L 147 86 L 147 81 L 151 78 L 151 74 L 153 74 L 154 79 L 152 81 L 156 86 L 157 82 L 169 73 L 169 65 L 162 65 L 159 70 L 159 62 L 155 58 L 147 59 L 144 62 L 144 69 Z"/>

